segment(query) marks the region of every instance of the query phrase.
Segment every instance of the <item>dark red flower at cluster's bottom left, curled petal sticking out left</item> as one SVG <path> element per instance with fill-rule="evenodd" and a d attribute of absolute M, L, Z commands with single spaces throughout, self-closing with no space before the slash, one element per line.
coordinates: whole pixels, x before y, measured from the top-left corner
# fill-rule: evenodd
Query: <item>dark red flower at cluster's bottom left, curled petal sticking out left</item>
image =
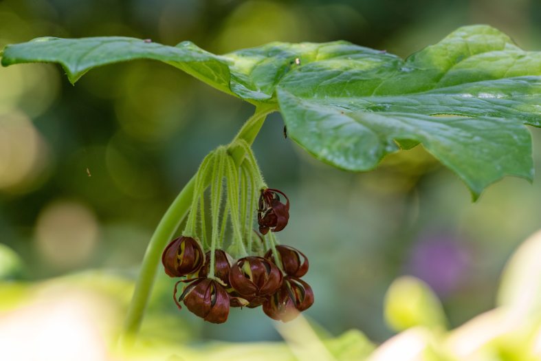
<path fill-rule="evenodd" d="M 189 283 L 182 290 L 177 300 L 177 285 L 181 282 Z M 217 281 L 210 278 L 192 278 L 182 280 L 175 285 L 175 303 L 179 308 L 180 301 L 197 316 L 212 323 L 223 323 L 229 315 L 229 295 Z"/>

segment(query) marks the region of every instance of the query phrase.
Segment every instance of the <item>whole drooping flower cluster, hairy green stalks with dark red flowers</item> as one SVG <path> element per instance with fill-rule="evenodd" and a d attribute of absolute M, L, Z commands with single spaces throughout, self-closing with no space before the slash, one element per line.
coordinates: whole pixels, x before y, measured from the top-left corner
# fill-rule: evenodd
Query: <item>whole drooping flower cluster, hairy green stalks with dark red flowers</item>
<path fill-rule="evenodd" d="M 232 155 L 238 149 L 245 154 L 239 165 Z M 263 235 L 254 231 L 255 219 Z M 308 259 L 295 248 L 278 245 L 274 235 L 288 221 L 289 199 L 281 190 L 267 187 L 247 142 L 238 140 L 212 151 L 195 177 L 182 236 L 162 255 L 166 274 L 181 278 L 173 288 L 177 306 L 184 303 L 214 323 L 225 322 L 230 307 L 263 305 L 265 314 L 282 321 L 310 307 L 313 292 L 300 280 L 308 271 Z"/>

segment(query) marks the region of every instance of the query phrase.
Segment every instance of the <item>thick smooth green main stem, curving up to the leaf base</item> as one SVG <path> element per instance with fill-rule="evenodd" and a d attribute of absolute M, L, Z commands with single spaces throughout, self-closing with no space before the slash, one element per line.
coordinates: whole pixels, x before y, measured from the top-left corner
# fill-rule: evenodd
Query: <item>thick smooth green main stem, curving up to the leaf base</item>
<path fill-rule="evenodd" d="M 260 105 L 256 107 L 254 115 L 245 122 L 234 140 L 243 139 L 248 144 L 252 144 L 256 135 L 261 130 L 267 114 L 274 110 L 276 110 L 276 106 L 274 105 Z M 232 157 L 236 164 L 241 163 L 243 155 L 243 149 L 237 148 L 232 151 Z M 192 204 L 194 186 L 195 177 L 192 177 L 169 206 L 164 217 L 159 221 L 150 243 L 148 243 L 141 270 L 135 282 L 135 290 L 133 291 L 133 297 L 128 308 L 128 314 L 124 322 L 121 342 L 135 337 L 137 331 L 140 329 L 148 298 L 154 285 L 157 266 L 162 259 L 162 252 L 168 241 L 175 235 L 182 219 L 186 217 Z"/>

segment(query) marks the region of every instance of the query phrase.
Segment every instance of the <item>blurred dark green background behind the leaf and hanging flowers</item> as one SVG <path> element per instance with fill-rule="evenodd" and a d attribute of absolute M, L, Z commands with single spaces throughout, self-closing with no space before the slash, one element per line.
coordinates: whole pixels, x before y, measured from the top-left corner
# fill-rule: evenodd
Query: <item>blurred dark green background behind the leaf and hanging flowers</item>
<path fill-rule="evenodd" d="M 222 53 L 344 39 L 406 56 L 470 23 L 541 50 L 534 0 L 3 0 L 0 47 L 46 35 L 121 35 L 190 40 Z M 0 242 L 19 254 L 29 281 L 87 269 L 133 278 L 170 201 L 252 107 L 150 61 L 97 69 L 76 87 L 60 72 L 0 69 Z M 269 117 L 254 151 L 267 183 L 292 201 L 281 239 L 311 261 L 306 279 L 316 303 L 307 315 L 333 334 L 355 328 L 374 341 L 388 338 L 384 294 L 403 274 L 434 289 L 451 328 L 491 309 L 505 260 L 541 226 L 540 176 L 531 186 L 505 179 L 471 204 L 460 181 L 420 147 L 390 155 L 377 171 L 344 173 L 312 160 L 282 128 L 279 116 Z M 541 133 L 530 131 L 540 169 Z M 233 311 L 226 326 L 203 323 L 176 309 L 172 287 L 159 276 L 144 334 L 279 338 L 259 313 Z M 126 300 L 130 293 L 126 287 Z"/>

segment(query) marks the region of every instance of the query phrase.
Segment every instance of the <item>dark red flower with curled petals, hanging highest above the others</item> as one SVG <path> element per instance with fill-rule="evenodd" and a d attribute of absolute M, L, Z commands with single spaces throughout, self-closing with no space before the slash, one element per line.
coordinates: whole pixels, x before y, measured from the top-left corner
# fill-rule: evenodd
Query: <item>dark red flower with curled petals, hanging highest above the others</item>
<path fill-rule="evenodd" d="M 285 197 L 285 204 L 280 201 L 280 195 Z M 288 220 L 289 199 L 287 196 L 277 189 L 262 189 L 257 210 L 259 232 L 267 234 L 271 228 L 272 232 L 279 232 L 287 226 Z"/>

